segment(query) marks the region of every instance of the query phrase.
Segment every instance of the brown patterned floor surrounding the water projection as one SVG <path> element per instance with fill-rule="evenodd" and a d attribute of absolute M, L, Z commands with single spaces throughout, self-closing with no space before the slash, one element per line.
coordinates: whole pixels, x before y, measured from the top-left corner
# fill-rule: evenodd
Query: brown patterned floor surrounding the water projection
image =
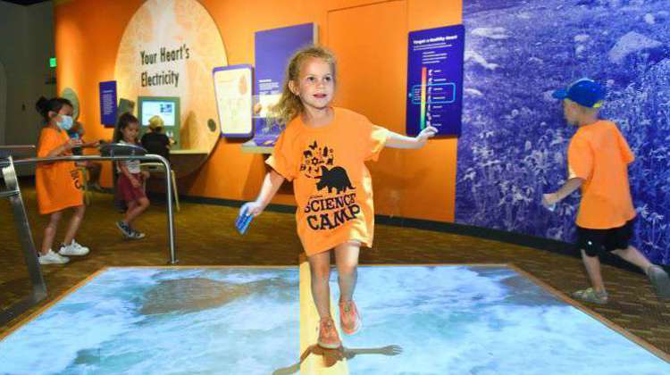
<path fill-rule="evenodd" d="M 33 237 L 39 246 L 46 218 L 38 215 L 34 189 L 24 187 L 23 193 Z M 183 203 L 175 217 L 180 264 L 297 266 L 301 247 L 293 214 L 264 212 L 252 222 L 244 237 L 233 227 L 236 215 L 237 209 L 230 207 Z M 114 221 L 120 218 L 121 214 L 113 208 L 112 196 L 94 194 L 77 237 L 81 244 L 91 248 L 91 254 L 72 257 L 66 265 L 44 266 L 49 296 L 31 312 L 105 266 L 166 264 L 168 247 L 163 204 L 155 204 L 139 219 L 137 228 L 147 233 L 143 240 L 122 239 L 114 226 Z M 63 239 L 64 225 L 61 227 L 58 240 Z M 29 291 L 19 238 L 6 200 L 0 201 L 0 240 L 0 308 L 5 308 Z M 361 263 L 444 262 L 514 263 L 565 294 L 587 285 L 582 263 L 576 257 L 435 231 L 378 225 L 374 248 L 361 252 Z M 670 303 L 657 300 L 641 273 L 604 266 L 603 274 L 610 302 L 605 306 L 588 307 L 670 354 Z M 0 335 L 29 313 L 0 327 Z"/>

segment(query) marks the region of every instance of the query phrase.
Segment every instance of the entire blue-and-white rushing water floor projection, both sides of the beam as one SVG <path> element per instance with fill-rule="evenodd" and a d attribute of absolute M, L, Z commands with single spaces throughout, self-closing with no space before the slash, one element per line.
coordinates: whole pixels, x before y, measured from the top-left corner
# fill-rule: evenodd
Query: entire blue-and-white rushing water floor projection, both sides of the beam
<path fill-rule="evenodd" d="M 4 338 L 0 372 L 670 373 L 506 266 L 360 267 L 364 329 L 323 350 L 305 266 L 107 269 Z"/>

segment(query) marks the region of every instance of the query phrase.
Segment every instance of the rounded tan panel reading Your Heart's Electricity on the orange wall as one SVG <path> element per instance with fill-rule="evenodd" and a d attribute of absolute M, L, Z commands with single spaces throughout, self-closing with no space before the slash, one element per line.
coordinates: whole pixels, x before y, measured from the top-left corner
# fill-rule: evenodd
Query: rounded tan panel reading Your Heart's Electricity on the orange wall
<path fill-rule="evenodd" d="M 200 2 L 147 0 L 123 32 L 114 79 L 118 97 L 180 98 L 172 129 L 179 147 L 206 155 L 221 137 L 212 71 L 227 64 L 219 28 Z"/>

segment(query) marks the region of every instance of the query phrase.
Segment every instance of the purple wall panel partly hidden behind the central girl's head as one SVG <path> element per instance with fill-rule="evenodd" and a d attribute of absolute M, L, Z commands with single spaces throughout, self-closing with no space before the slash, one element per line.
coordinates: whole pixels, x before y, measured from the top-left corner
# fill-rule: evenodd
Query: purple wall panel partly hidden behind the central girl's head
<path fill-rule="evenodd" d="M 282 127 L 268 117 L 281 97 L 284 73 L 298 49 L 316 42 L 316 25 L 305 23 L 255 33 L 254 140 L 256 146 L 274 146 Z"/>

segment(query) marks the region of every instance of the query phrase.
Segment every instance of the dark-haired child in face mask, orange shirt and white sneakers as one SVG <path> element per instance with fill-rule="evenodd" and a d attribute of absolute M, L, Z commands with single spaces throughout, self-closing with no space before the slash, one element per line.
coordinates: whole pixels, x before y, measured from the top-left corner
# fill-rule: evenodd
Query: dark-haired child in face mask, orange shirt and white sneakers
<path fill-rule="evenodd" d="M 72 104 L 62 97 L 39 98 L 35 107 L 45 126 L 39 135 L 38 157 L 70 156 L 74 147 L 81 146 L 80 139 L 71 139 L 67 130 L 71 129 Z M 80 189 L 80 172 L 74 162 L 38 163 L 35 171 L 35 188 L 38 195 L 39 213 L 49 215 L 42 247 L 39 252 L 40 264 L 63 264 L 69 262 L 68 256 L 86 255 L 88 247 L 74 240 L 84 219 L 86 206 Z M 65 233 L 60 249 L 52 249 L 58 222 L 66 209 L 72 208 L 74 214 Z"/>

